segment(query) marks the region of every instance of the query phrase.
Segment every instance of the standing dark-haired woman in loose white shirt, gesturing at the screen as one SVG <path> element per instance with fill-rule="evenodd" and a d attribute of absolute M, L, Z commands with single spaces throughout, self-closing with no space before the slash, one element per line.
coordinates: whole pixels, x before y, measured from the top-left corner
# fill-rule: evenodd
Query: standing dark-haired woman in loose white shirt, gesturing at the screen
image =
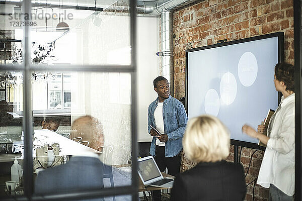
<path fill-rule="evenodd" d="M 257 183 L 268 188 L 270 200 L 293 200 L 295 165 L 295 94 L 294 66 L 278 63 L 275 66 L 274 83 L 283 96 L 272 116 L 267 134 L 264 125 L 258 125 L 258 132 L 244 125 L 242 131 L 266 144 Z"/>

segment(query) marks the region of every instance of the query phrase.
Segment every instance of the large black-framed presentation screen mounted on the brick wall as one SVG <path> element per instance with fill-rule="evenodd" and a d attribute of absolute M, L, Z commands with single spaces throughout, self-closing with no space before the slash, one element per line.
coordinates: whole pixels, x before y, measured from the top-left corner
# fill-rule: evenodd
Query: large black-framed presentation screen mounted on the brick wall
<path fill-rule="evenodd" d="M 219 118 L 234 145 L 261 149 L 242 133 L 257 129 L 280 94 L 274 67 L 283 61 L 283 32 L 186 50 L 186 110 L 189 119 L 202 114 Z M 278 97 L 279 96 L 279 97 Z"/>

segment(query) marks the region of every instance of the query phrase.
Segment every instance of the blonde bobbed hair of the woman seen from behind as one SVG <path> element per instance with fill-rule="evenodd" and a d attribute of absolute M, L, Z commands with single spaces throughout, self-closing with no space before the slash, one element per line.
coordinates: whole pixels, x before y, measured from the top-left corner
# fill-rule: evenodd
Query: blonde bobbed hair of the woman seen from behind
<path fill-rule="evenodd" d="M 190 119 L 182 142 L 186 157 L 196 162 L 215 162 L 229 156 L 230 133 L 210 115 Z"/>

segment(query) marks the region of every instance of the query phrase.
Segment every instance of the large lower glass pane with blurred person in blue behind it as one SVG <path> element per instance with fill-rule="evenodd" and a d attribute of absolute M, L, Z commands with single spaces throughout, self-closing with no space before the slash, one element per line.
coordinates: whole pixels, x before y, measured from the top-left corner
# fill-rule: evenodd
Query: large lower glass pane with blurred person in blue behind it
<path fill-rule="evenodd" d="M 63 90 L 64 107 L 70 112 L 35 115 L 34 172 L 42 171 L 35 175 L 35 192 L 131 185 L 130 74 L 66 75 L 62 86 L 68 81 L 70 88 Z M 59 94 L 50 90 L 50 97 L 60 99 Z"/>

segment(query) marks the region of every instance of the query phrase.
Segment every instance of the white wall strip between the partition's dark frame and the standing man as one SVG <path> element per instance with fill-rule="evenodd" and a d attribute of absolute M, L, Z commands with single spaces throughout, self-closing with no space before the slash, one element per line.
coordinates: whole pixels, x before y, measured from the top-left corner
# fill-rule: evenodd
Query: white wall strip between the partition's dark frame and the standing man
<path fill-rule="evenodd" d="M 153 80 L 159 76 L 159 18 L 137 18 L 138 142 L 151 142 L 148 134 L 148 106 L 157 98 Z"/>

